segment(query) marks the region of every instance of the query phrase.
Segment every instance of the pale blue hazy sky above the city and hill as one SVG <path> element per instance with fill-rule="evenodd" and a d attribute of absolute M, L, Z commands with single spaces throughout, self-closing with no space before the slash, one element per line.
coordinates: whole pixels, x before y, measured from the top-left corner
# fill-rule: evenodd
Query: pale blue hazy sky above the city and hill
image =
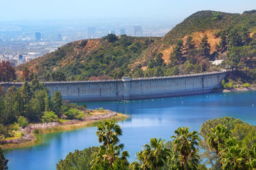
<path fill-rule="evenodd" d="M 200 10 L 242 13 L 256 0 L 0 0 L 0 20 L 182 20 Z"/>

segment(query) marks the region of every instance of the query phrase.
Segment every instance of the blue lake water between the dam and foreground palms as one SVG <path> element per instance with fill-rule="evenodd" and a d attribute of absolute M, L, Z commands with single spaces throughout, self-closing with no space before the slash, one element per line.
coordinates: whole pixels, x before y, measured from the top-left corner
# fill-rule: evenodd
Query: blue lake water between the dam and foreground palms
<path fill-rule="evenodd" d="M 78 103 L 83 104 L 83 103 Z M 201 124 L 219 117 L 240 118 L 256 124 L 256 92 L 230 92 L 196 96 L 166 97 L 131 101 L 86 103 L 88 108 L 104 108 L 131 115 L 119 122 L 123 130 L 121 143 L 129 151 L 129 160 L 148 143 L 150 138 L 170 140 L 173 131 L 181 126 L 200 131 Z M 96 127 L 68 132 L 42 134 L 43 143 L 28 148 L 8 150 L 9 169 L 56 169 L 56 163 L 69 152 L 98 146 Z"/>

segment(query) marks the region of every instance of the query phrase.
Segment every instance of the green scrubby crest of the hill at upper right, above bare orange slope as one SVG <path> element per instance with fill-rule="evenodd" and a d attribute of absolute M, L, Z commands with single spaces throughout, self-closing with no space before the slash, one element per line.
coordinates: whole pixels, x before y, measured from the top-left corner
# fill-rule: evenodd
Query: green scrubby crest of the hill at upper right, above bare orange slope
<path fill-rule="evenodd" d="M 218 11 L 198 11 L 176 25 L 164 36 L 164 41 L 175 43 L 177 39 L 183 38 L 193 32 L 204 32 L 206 30 L 221 30 L 237 25 L 255 31 L 256 10 L 244 11 L 242 14 L 224 13 Z"/>

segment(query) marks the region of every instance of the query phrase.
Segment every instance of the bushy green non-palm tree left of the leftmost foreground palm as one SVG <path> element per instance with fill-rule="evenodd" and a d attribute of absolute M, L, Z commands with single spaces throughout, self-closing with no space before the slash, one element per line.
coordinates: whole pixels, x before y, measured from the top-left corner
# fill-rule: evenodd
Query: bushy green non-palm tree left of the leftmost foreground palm
<path fill-rule="evenodd" d="M 75 150 L 70 152 L 64 160 L 60 160 L 56 165 L 57 170 L 75 170 L 75 169 L 91 169 L 90 162 L 93 155 L 99 151 L 99 147 L 89 147 L 84 150 Z"/>

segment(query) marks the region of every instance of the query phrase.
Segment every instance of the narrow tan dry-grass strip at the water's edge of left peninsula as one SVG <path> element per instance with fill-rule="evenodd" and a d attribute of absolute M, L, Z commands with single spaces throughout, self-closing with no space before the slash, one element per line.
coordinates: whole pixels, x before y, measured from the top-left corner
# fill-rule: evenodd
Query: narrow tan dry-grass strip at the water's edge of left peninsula
<path fill-rule="evenodd" d="M 118 122 L 118 121 L 125 120 L 126 118 L 128 118 L 128 115 L 118 113 L 115 117 L 107 118 L 107 119 L 113 120 L 114 122 Z M 61 132 L 61 131 L 72 131 L 74 129 L 80 129 L 80 128 L 84 128 L 84 127 L 93 127 L 93 126 L 97 126 L 99 124 L 102 124 L 107 119 L 94 120 L 94 121 L 91 121 L 91 122 L 81 122 L 79 124 L 73 124 L 73 125 L 61 125 L 60 127 L 52 127 L 52 128 L 49 128 L 49 129 L 35 129 L 33 131 L 33 134 L 35 136 L 34 141 L 29 141 L 29 142 L 26 142 L 26 143 L 18 143 L 18 144 L 13 144 L 13 143 L 12 144 L 4 144 L 4 145 L 0 145 L 0 146 L 4 150 L 10 149 L 10 148 L 15 149 L 15 148 L 23 148 L 23 147 L 28 147 L 28 146 L 34 146 L 34 145 L 37 145 L 39 143 L 42 143 L 42 139 L 40 138 L 40 135 L 38 135 L 38 134 L 46 134 L 46 133 Z"/>

